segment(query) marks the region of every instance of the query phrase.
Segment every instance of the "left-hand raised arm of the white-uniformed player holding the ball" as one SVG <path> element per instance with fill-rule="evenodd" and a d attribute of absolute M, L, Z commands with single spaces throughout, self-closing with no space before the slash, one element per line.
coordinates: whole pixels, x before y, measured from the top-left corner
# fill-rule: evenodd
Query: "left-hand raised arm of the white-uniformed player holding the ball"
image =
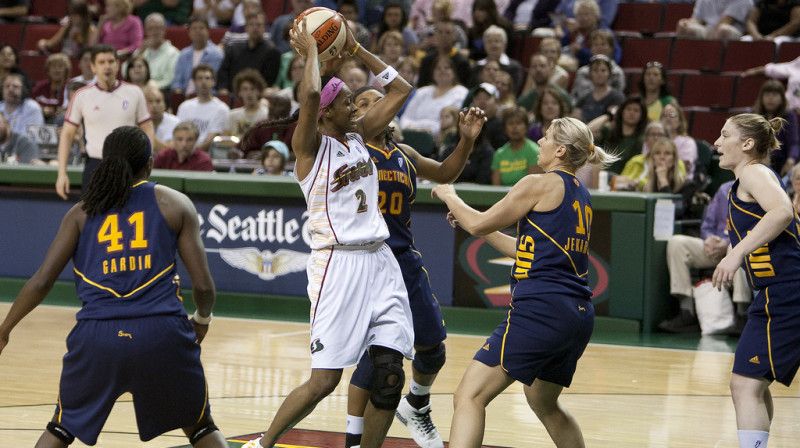
<path fill-rule="evenodd" d="M 322 140 L 318 127 L 320 92 L 322 90 L 322 80 L 319 77 L 319 55 L 317 54 L 317 41 L 308 32 L 306 19 L 303 19 L 299 25 L 295 24 L 289 43 L 306 58 L 298 92 L 300 115 L 292 135 L 292 149 L 297 157 L 295 171 L 297 171 L 298 179 L 304 179 L 314 166 L 317 150 Z"/>

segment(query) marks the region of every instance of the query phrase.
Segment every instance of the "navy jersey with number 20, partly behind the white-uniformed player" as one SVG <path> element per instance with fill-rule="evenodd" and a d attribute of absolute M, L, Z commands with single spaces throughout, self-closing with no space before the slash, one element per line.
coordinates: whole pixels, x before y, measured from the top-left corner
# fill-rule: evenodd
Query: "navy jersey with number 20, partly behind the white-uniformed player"
<path fill-rule="evenodd" d="M 417 164 L 394 142 L 382 149 L 367 144 L 372 162 L 378 168 L 378 206 L 389 227 L 386 244 L 403 249 L 414 243 L 411 235 L 411 204 L 417 197 Z"/>

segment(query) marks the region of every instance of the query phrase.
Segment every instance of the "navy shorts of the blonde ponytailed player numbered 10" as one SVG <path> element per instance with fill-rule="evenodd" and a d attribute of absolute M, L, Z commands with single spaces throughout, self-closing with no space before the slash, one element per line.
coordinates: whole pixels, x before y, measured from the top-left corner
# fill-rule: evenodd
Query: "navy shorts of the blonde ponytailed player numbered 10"
<path fill-rule="evenodd" d="M 593 329 L 590 300 L 560 294 L 515 299 L 474 359 L 500 365 L 528 386 L 541 379 L 569 387 Z"/>

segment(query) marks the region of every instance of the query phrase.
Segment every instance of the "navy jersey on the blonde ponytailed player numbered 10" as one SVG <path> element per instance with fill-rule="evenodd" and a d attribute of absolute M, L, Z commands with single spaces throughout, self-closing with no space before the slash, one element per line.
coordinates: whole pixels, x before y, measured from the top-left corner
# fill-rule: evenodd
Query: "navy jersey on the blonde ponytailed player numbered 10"
<path fill-rule="evenodd" d="M 574 174 L 553 171 L 564 181 L 564 200 L 547 212 L 530 211 L 517 223 L 517 255 L 511 268 L 511 297 L 542 294 L 592 296 L 589 191 Z"/>

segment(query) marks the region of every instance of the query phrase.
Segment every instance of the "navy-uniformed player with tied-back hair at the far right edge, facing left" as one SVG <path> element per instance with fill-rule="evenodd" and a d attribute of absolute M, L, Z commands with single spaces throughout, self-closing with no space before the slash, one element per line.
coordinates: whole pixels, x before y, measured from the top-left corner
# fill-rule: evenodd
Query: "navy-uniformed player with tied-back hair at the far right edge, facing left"
<path fill-rule="evenodd" d="M 731 374 L 740 447 L 766 448 L 774 415 L 769 385 L 789 386 L 800 366 L 800 220 L 783 182 L 769 164 L 780 149 L 784 120 L 756 114 L 729 118 L 714 142 L 719 166 L 736 180 L 728 192 L 733 248 L 711 278 L 730 285 L 741 266 L 758 291 L 748 310 Z"/>

